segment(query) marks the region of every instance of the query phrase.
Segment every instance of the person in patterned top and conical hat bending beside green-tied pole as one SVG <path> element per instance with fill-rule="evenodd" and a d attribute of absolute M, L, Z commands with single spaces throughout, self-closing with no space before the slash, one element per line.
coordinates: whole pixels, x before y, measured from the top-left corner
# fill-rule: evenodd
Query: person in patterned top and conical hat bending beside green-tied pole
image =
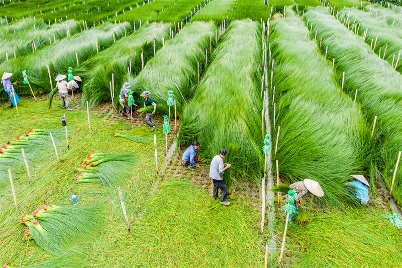
<path fill-rule="evenodd" d="M 324 191 L 321 188 L 320 184 L 316 181 L 310 180 L 309 178 L 306 178 L 303 182 L 295 182 L 291 185 L 289 185 L 290 189 L 296 191 L 296 199 L 295 199 L 295 204 L 294 204 L 294 215 L 297 215 L 297 208 L 302 206 L 302 200 L 303 198 L 308 195 L 309 193 L 312 193 L 315 196 L 322 197 L 324 196 Z M 286 196 L 287 200 L 287 196 Z M 287 202 L 287 201 L 286 201 Z M 302 206 L 303 207 L 303 206 Z M 292 220 L 292 214 L 289 214 L 289 221 Z M 293 225 L 290 223 L 290 225 Z"/>

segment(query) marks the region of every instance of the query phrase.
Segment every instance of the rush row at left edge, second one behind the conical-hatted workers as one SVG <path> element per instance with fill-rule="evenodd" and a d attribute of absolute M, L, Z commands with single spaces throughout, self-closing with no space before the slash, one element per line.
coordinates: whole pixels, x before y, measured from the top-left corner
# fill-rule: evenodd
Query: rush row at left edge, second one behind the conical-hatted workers
<path fill-rule="evenodd" d="M 49 45 L 54 39 L 60 40 L 69 35 L 73 35 L 79 31 L 79 23 L 75 21 L 65 21 L 61 24 L 46 26 L 43 22 L 36 21 L 35 28 L 26 29 L 16 33 L 7 34 L 3 40 L 0 40 L 0 61 L 6 61 L 6 53 L 9 54 L 9 60 L 14 58 L 14 49 L 16 56 L 20 57 L 32 52 L 33 42 L 35 41 L 36 49 L 41 49 Z M 53 37 L 54 35 L 54 37 Z"/>

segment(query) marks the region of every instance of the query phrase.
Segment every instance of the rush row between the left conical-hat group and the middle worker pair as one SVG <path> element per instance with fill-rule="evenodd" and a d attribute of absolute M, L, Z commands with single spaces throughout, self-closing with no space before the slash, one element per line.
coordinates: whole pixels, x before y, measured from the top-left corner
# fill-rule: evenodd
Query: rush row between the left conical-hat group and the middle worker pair
<path fill-rule="evenodd" d="M 114 73 L 115 83 L 115 104 L 120 108 L 119 95 L 120 88 L 127 76 L 127 67 L 130 65 L 130 76 L 135 77 L 142 69 L 141 53 L 143 53 L 144 64 L 154 56 L 155 52 L 162 47 L 162 37 L 169 38 L 169 25 L 153 23 L 144 26 L 126 37 L 118 40 L 113 46 L 99 54 L 94 55 L 76 69 L 76 73 L 85 77 L 83 84 L 82 106 L 88 101 L 89 105 L 94 105 L 111 100 L 110 81 Z"/>

